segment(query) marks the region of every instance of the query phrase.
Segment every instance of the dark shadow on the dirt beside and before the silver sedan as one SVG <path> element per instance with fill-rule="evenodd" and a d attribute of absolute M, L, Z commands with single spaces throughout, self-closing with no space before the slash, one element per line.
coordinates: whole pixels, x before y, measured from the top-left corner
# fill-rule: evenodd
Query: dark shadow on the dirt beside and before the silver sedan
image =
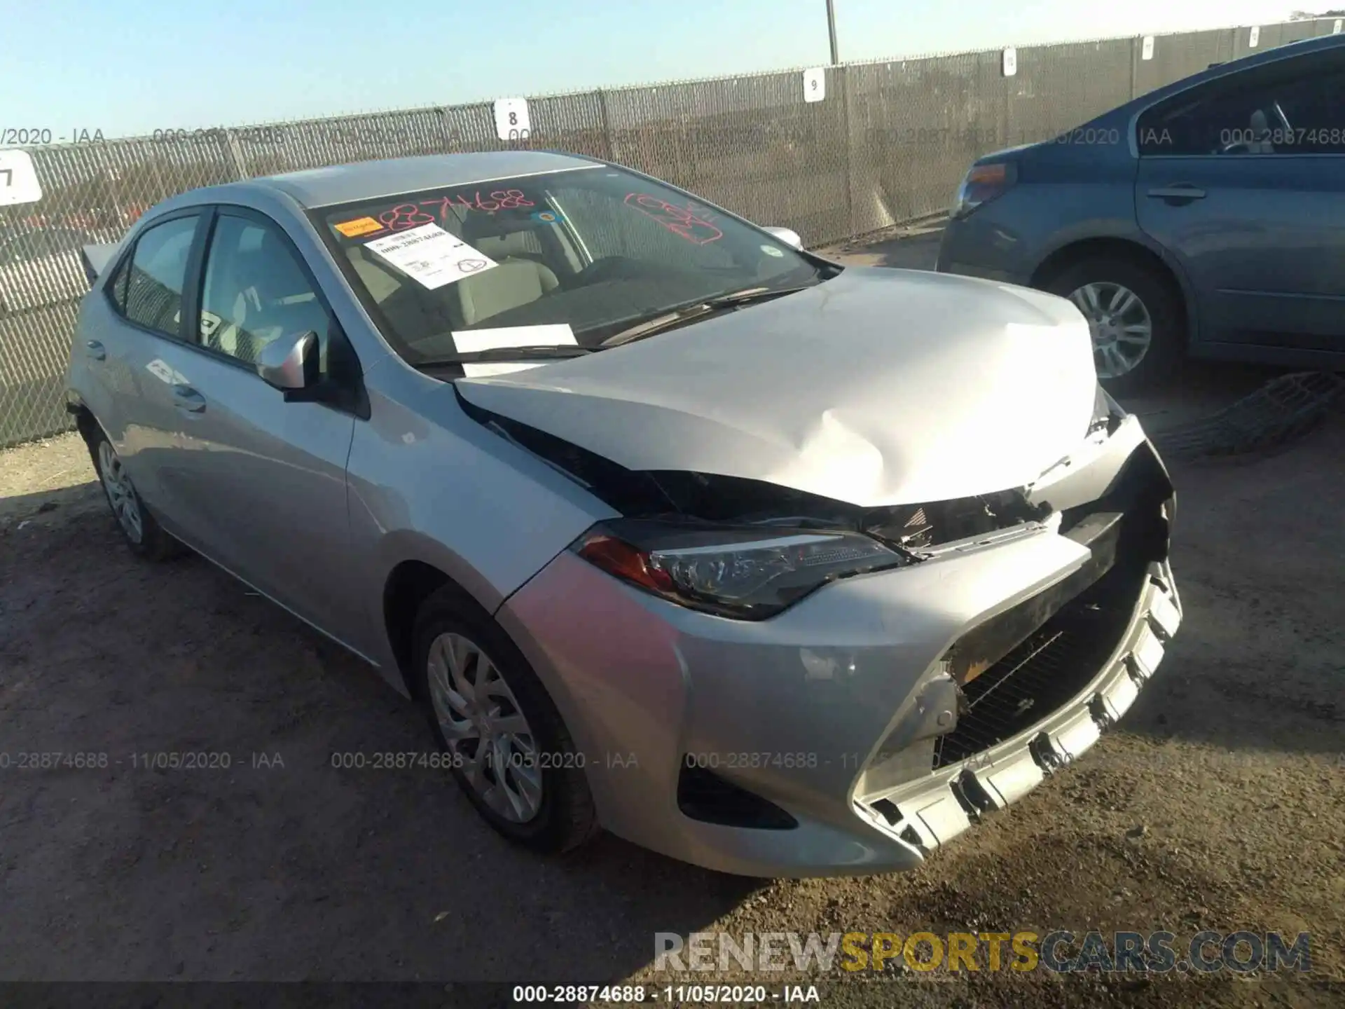
<path fill-rule="evenodd" d="M 83 755 L 3 774 L 28 923 L 4 977 L 594 983 L 757 888 L 613 837 L 508 845 L 445 772 L 379 756 L 430 736 L 359 659 L 198 557 L 59 515 L 0 531 L 3 748 Z"/>

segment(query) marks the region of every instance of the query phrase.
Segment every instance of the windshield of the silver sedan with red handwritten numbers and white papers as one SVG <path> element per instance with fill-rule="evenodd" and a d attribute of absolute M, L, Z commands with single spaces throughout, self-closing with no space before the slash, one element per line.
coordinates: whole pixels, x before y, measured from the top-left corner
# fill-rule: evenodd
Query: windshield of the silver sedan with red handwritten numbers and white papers
<path fill-rule="evenodd" d="M 389 343 L 413 365 L 482 347 L 599 348 L 687 305 L 820 278 L 790 245 L 608 165 L 313 217 Z"/>

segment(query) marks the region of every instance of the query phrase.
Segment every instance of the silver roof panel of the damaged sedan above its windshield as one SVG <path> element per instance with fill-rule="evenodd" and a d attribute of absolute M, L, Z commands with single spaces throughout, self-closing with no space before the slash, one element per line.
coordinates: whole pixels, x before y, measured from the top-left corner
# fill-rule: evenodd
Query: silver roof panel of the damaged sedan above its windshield
<path fill-rule="evenodd" d="M 596 164 L 600 163 L 557 151 L 482 151 L 356 161 L 268 175 L 249 182 L 253 186 L 280 190 L 304 207 L 312 209 L 443 186 L 467 186 L 519 175 L 592 168 Z"/>

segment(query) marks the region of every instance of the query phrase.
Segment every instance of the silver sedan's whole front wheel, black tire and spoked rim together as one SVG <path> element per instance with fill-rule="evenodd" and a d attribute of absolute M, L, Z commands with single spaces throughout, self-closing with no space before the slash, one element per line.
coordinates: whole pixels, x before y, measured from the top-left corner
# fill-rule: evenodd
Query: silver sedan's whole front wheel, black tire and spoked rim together
<path fill-rule="evenodd" d="M 416 619 L 420 697 L 453 776 L 495 830 L 538 852 L 597 833 L 584 757 L 542 681 L 508 635 L 456 587 Z"/>

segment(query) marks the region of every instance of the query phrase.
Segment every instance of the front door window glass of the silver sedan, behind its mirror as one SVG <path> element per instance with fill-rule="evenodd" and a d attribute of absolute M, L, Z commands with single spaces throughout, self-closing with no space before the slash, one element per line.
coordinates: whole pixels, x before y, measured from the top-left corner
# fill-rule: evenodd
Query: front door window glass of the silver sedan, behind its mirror
<path fill-rule="evenodd" d="M 221 214 L 206 254 L 202 346 L 252 365 L 272 340 L 309 330 L 325 358 L 327 309 L 280 230 Z"/>

